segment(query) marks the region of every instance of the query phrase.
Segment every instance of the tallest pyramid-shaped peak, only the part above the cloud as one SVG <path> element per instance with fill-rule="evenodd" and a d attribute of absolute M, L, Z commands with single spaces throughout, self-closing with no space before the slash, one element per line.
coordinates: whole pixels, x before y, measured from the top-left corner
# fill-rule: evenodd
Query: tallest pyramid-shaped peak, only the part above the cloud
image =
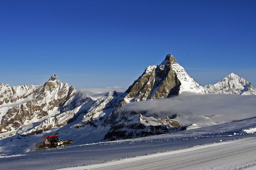
<path fill-rule="evenodd" d="M 204 88 L 187 74 L 172 54 L 168 54 L 160 65 L 148 66 L 124 93 L 121 105 L 126 103 L 168 98 L 181 92 L 204 93 Z"/>

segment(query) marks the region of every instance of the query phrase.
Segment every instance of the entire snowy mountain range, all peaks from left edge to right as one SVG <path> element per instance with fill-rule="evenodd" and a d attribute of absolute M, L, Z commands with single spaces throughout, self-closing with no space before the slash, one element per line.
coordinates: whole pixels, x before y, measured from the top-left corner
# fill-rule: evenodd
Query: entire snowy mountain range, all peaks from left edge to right
<path fill-rule="evenodd" d="M 37 135 L 56 132 L 61 136 L 76 136 L 74 144 L 83 144 L 185 130 L 186 125 L 178 122 L 173 114 L 148 115 L 122 110 L 127 103 L 171 98 L 182 92 L 250 95 L 256 94 L 256 89 L 235 74 L 215 85 L 202 87 L 172 54 L 160 65 L 148 66 L 121 95 L 111 91 L 92 99 L 59 81 L 55 74 L 40 85 L 11 87 L 0 83 L 0 143 L 8 143 L 9 138 L 25 141 L 28 137 L 34 137 L 33 142 L 37 142 Z"/>

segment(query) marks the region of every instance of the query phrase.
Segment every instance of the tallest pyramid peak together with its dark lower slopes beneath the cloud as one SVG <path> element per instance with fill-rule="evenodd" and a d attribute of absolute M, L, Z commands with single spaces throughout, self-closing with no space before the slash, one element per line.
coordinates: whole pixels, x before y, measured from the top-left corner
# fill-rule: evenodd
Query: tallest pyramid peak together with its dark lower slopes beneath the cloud
<path fill-rule="evenodd" d="M 143 137 L 181 130 L 182 125 L 169 117 L 152 118 L 136 111 L 123 112 L 121 108 L 126 103 L 169 98 L 184 91 L 204 93 L 203 87 L 186 73 L 172 54 L 168 54 L 160 65 L 148 66 L 123 94 L 119 109 L 107 119 L 111 128 L 105 139 Z"/>

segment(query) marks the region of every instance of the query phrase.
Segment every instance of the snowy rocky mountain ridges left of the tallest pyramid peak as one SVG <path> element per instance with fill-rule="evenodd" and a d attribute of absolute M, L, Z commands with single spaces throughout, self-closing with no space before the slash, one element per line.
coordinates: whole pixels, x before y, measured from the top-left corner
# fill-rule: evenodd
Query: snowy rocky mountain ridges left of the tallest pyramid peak
<path fill-rule="evenodd" d="M 40 134 L 63 127 L 80 115 L 80 123 L 73 127 L 92 125 L 118 106 L 115 91 L 93 100 L 67 83 L 61 83 L 56 75 L 35 86 L 0 84 L 0 93 L 0 137 Z"/>

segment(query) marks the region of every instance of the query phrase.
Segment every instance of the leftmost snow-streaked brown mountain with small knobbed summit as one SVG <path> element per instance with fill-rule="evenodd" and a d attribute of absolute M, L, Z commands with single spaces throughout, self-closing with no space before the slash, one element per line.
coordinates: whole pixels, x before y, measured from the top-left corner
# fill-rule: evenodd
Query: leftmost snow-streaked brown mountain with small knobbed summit
<path fill-rule="evenodd" d="M 55 115 L 59 105 L 67 101 L 74 90 L 67 83 L 61 83 L 56 75 L 41 85 L 10 87 L 1 84 L 0 134 L 20 133 L 29 128 L 29 124 Z"/>

